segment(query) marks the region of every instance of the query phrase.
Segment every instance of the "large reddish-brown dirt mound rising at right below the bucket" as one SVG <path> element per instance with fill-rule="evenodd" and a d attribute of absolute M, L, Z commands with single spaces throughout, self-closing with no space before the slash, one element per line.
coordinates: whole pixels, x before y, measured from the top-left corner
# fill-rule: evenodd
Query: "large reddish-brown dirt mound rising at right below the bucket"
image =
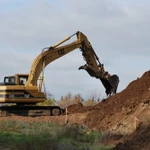
<path fill-rule="evenodd" d="M 136 150 L 141 150 L 143 144 L 139 143 L 143 143 L 143 134 L 150 136 L 147 125 L 150 124 L 150 71 L 131 82 L 122 92 L 103 99 L 95 106 L 73 105 L 68 109 L 70 113 L 86 113 L 84 124 L 90 128 L 126 135 L 129 139 L 123 139 L 124 144 L 119 144 L 117 149 L 125 149 L 128 145 L 126 150 L 134 150 L 134 146 Z M 142 128 L 139 128 L 141 124 Z M 139 141 L 138 144 L 135 139 Z M 145 144 L 148 146 L 148 143 Z"/>

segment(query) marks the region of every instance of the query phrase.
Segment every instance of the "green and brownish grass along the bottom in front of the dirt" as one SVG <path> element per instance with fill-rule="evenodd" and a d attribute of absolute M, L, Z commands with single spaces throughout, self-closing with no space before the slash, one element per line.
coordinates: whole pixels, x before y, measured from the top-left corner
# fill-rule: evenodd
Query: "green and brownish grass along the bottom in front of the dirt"
<path fill-rule="evenodd" d="M 103 135 L 80 126 L 23 121 L 0 122 L 0 149 L 11 150 L 111 150 Z"/>

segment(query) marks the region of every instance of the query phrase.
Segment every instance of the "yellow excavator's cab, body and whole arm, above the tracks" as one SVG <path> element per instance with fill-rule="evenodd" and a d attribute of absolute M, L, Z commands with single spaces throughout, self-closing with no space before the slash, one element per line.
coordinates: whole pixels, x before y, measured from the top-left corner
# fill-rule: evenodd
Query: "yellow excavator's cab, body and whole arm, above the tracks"
<path fill-rule="evenodd" d="M 75 41 L 62 45 L 75 35 L 77 37 Z M 80 49 L 86 61 L 86 64 L 79 67 L 79 70 L 84 69 L 90 76 L 100 79 L 107 95 L 115 94 L 119 77 L 110 75 L 105 71 L 104 65 L 100 63 L 87 37 L 78 31 L 59 43 L 44 48 L 41 54 L 33 61 L 29 74 L 16 74 L 4 77 L 4 82 L 0 83 L 0 103 L 25 105 L 45 101 L 46 95 L 42 92 L 45 67 L 52 61 L 76 49 Z"/>

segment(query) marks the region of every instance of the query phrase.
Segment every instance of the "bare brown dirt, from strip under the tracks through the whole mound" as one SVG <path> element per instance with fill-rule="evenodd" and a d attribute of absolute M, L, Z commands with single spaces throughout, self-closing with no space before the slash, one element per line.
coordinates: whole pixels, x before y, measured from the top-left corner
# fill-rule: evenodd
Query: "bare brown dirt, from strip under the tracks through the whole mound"
<path fill-rule="evenodd" d="M 12 116 L 0 120 L 78 123 L 91 130 L 109 133 L 106 144 L 116 145 L 114 150 L 150 150 L 150 71 L 131 82 L 122 92 L 103 99 L 95 106 L 76 104 L 67 110 L 67 116 Z"/>

